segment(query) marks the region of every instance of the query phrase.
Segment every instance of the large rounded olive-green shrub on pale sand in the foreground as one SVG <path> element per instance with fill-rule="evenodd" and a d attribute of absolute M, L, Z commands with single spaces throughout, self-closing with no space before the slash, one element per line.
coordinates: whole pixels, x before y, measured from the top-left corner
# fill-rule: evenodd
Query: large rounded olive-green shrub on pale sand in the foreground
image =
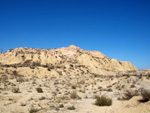
<path fill-rule="evenodd" d="M 97 106 L 110 106 L 112 105 L 112 99 L 109 99 L 107 97 L 97 97 L 95 101 L 95 105 Z"/>

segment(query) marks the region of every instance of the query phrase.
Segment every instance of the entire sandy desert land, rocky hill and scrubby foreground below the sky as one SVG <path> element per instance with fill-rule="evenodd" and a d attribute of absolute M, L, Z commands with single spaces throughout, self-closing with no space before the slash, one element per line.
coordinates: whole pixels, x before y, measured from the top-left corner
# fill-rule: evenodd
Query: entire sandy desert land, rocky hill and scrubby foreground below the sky
<path fill-rule="evenodd" d="M 149 113 L 149 86 L 150 70 L 73 45 L 0 54 L 0 113 Z"/>

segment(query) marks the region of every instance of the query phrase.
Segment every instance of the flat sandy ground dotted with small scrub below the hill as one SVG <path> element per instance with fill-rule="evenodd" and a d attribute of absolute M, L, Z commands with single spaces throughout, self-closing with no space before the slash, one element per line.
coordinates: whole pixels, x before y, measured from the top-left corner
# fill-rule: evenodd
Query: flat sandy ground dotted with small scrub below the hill
<path fill-rule="evenodd" d="M 141 96 L 149 87 L 150 73 L 40 77 L 5 70 L 0 72 L 0 113 L 150 113 L 150 101 Z M 112 105 L 96 106 L 97 96 L 111 98 Z"/>

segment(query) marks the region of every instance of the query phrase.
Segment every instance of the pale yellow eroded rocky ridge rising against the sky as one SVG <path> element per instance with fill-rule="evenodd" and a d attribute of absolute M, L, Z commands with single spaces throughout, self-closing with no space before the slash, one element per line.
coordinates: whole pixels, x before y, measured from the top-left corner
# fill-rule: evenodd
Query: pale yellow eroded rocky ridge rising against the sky
<path fill-rule="evenodd" d="M 56 71 L 59 67 L 61 72 L 71 74 L 94 73 L 99 75 L 116 75 L 118 72 L 135 71 L 137 68 L 130 62 L 109 59 L 98 51 L 86 51 L 70 45 L 58 49 L 35 49 L 16 48 L 0 54 L 1 65 L 16 65 L 19 67 L 47 66 L 53 67 L 50 71 Z M 27 71 L 27 69 L 25 69 Z M 46 70 L 46 69 L 44 69 Z M 43 70 L 43 71 L 44 71 Z M 71 70 L 71 71 L 70 71 Z M 45 71 L 44 71 L 45 72 Z M 47 73 L 47 72 L 45 72 Z"/>

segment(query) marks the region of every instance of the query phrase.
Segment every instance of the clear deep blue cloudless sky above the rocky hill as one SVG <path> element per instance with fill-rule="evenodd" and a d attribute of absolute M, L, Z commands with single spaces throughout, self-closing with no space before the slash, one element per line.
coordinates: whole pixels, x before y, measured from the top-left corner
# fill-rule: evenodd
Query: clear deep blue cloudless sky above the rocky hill
<path fill-rule="evenodd" d="M 0 0 L 0 48 L 76 45 L 150 69 L 150 0 Z"/>

